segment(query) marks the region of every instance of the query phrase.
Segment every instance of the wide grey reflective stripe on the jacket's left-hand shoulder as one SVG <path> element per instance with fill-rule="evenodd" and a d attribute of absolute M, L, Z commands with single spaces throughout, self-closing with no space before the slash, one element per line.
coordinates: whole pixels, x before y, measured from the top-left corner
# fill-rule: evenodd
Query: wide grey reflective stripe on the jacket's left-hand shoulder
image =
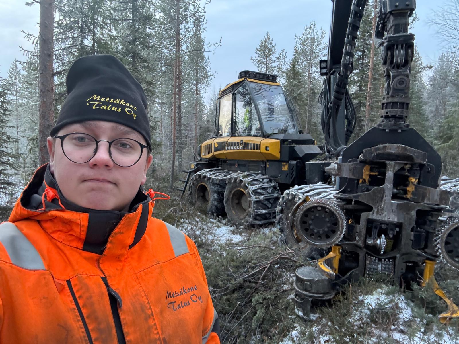
<path fill-rule="evenodd" d="M 40 254 L 14 223 L 0 224 L 0 243 L 14 265 L 28 270 L 45 270 Z"/>

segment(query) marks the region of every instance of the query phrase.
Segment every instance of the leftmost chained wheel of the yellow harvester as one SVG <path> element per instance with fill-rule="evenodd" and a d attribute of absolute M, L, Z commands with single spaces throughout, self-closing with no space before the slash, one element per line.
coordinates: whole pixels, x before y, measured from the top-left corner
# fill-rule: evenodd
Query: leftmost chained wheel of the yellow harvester
<path fill-rule="evenodd" d="M 190 200 L 203 213 L 224 215 L 224 192 L 224 181 L 213 181 L 203 175 L 195 175 L 191 180 Z"/>

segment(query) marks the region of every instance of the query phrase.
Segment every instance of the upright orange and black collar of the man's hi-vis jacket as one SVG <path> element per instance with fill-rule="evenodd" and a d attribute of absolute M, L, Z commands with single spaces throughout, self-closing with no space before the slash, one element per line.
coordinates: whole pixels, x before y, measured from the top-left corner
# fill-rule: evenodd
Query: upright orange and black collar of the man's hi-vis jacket
<path fill-rule="evenodd" d="M 146 231 L 154 201 L 141 189 L 132 200 L 129 211 L 101 211 L 73 204 L 62 195 L 50 172 L 49 164 L 35 171 L 14 205 L 9 221 L 37 220 L 54 239 L 81 250 L 103 254 L 108 238 L 116 227 L 133 222 L 125 233 L 129 248 L 137 244 Z M 123 230 L 126 232 L 126 229 Z"/>

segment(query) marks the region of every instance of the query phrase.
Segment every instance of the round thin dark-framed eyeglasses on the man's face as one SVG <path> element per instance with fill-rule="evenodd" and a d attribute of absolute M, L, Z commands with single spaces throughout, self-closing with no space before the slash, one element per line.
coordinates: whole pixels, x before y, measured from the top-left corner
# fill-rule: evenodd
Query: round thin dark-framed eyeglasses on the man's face
<path fill-rule="evenodd" d="M 61 147 L 68 160 L 77 164 L 84 164 L 90 161 L 97 153 L 99 142 L 108 142 L 108 153 L 112 161 L 121 167 L 133 166 L 140 160 L 143 149 L 150 150 L 145 144 L 127 138 L 115 139 L 112 141 L 96 140 L 89 134 L 69 133 L 54 138 L 61 139 Z"/>

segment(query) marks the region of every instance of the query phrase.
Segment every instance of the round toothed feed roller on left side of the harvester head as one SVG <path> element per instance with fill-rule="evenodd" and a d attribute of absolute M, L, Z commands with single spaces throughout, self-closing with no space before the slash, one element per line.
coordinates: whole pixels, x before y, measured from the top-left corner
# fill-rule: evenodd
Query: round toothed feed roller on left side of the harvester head
<path fill-rule="evenodd" d="M 310 200 L 295 216 L 297 230 L 308 244 L 325 248 L 336 244 L 346 230 L 346 217 L 332 200 Z"/>

